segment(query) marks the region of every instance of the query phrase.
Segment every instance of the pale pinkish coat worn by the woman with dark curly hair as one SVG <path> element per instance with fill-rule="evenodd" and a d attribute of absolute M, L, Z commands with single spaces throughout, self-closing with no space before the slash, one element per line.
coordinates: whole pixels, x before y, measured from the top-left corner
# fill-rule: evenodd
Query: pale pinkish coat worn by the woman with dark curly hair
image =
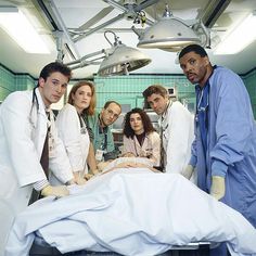
<path fill-rule="evenodd" d="M 124 136 L 124 149 L 123 154 L 131 152 L 135 156 L 145 157 L 151 155 L 150 159 L 154 166 L 159 166 L 161 157 L 161 139 L 156 131 L 150 132 L 145 136 L 145 139 L 140 145 L 136 136 L 133 138 L 127 138 Z"/>

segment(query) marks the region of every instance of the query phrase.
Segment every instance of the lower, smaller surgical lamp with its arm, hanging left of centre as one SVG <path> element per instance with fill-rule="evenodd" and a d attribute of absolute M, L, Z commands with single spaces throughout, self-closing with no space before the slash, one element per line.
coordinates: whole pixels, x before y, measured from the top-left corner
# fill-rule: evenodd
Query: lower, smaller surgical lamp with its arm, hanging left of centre
<path fill-rule="evenodd" d="M 107 39 L 107 33 L 112 33 L 114 35 L 114 43 L 111 43 L 111 41 Z M 126 47 L 124 43 L 121 43 L 115 33 L 106 30 L 104 33 L 104 37 L 112 48 L 90 53 L 79 60 L 66 63 L 66 65 L 68 65 L 72 69 L 76 69 L 88 65 L 100 64 L 98 75 L 111 76 L 128 75 L 129 72 L 145 66 L 151 62 L 151 59 L 149 59 L 144 53 L 137 49 Z M 104 60 L 100 62 L 102 59 Z"/>

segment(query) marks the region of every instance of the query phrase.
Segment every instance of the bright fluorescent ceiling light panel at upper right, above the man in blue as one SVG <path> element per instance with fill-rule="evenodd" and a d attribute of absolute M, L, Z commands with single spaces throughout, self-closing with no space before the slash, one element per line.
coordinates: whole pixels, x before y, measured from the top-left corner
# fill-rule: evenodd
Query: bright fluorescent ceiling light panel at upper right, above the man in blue
<path fill-rule="evenodd" d="M 256 39 L 256 11 L 244 18 L 216 47 L 214 54 L 234 54 L 245 49 Z"/>

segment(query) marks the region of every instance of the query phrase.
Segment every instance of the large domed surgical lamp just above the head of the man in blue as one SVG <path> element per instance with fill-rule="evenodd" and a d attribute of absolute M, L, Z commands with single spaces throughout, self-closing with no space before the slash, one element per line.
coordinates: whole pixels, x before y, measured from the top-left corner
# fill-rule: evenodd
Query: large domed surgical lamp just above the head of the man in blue
<path fill-rule="evenodd" d="M 209 46 L 209 34 L 200 21 L 183 21 L 175 17 L 166 5 L 163 17 L 151 27 L 132 30 L 139 36 L 139 48 L 157 48 L 180 51 L 183 47 L 197 43 Z"/>

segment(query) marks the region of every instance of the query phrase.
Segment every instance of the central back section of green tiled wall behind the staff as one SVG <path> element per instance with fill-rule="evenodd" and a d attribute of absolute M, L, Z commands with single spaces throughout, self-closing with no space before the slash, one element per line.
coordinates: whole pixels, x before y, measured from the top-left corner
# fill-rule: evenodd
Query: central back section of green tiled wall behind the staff
<path fill-rule="evenodd" d="M 97 88 L 97 107 L 101 108 L 108 100 L 132 107 L 143 106 L 142 92 L 151 85 L 175 87 L 180 100 L 194 102 L 194 86 L 182 75 L 130 75 L 102 78 L 94 77 Z"/>

